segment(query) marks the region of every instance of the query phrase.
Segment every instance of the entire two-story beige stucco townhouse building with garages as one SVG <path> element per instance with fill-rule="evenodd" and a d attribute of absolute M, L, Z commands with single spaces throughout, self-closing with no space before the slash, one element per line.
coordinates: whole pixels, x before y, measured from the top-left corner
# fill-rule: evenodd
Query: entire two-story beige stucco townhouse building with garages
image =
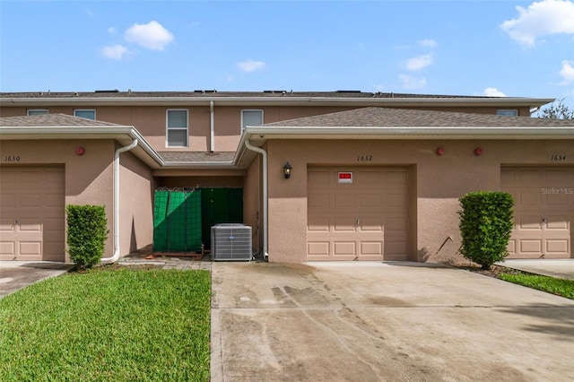
<path fill-rule="evenodd" d="M 158 190 L 201 194 L 204 247 L 213 223 L 240 222 L 254 255 L 293 263 L 460 262 L 458 198 L 501 190 L 510 257 L 571 258 L 574 121 L 531 117 L 551 101 L 0 93 L 0 259 L 69 261 L 66 204 L 105 206 L 104 261 L 149 247 Z"/>

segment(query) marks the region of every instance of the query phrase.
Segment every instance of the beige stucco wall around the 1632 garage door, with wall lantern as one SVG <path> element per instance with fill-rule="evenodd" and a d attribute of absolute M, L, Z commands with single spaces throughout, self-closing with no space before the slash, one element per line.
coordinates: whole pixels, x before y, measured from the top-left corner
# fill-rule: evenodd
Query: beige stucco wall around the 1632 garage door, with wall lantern
<path fill-rule="evenodd" d="M 439 156 L 438 147 L 446 152 Z M 476 147 L 483 155 L 474 155 Z M 458 198 L 471 191 L 500 190 L 504 165 L 560 165 L 553 154 L 574 162 L 569 141 L 268 141 L 269 261 L 305 262 L 307 256 L 307 167 L 336 165 L 408 166 L 411 171 L 410 258 L 460 262 Z M 372 155 L 372 161 L 360 161 Z M 359 159 L 359 161 L 358 161 Z M 283 165 L 293 167 L 283 178 Z"/>

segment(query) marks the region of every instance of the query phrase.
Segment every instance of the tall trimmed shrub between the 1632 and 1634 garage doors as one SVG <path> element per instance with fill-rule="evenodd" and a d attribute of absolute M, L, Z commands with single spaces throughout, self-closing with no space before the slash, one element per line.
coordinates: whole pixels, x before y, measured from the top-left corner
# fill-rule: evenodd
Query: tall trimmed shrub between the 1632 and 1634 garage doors
<path fill-rule="evenodd" d="M 509 256 L 510 232 L 512 230 L 512 195 L 499 191 L 480 191 L 459 199 L 462 210 L 460 253 L 483 269 Z"/>

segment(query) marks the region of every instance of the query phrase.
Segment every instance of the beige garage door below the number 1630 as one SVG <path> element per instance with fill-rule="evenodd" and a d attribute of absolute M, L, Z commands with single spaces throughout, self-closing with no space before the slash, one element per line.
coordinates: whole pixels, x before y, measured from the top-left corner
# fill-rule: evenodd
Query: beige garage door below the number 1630
<path fill-rule="evenodd" d="M 0 259 L 65 261 L 64 167 L 0 167 Z"/>

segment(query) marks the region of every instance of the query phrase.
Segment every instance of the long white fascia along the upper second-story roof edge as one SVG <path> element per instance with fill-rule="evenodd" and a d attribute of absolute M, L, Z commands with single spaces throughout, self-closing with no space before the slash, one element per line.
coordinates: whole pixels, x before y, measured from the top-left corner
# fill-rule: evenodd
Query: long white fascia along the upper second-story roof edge
<path fill-rule="evenodd" d="M 313 105 L 317 106 L 378 106 L 400 108 L 404 107 L 425 107 L 425 106 L 522 106 L 522 107 L 539 107 L 551 103 L 554 99 L 535 99 L 523 97 L 500 97 L 500 98 L 352 98 L 352 97 L 213 97 L 213 96 L 192 96 L 192 97 L 64 97 L 64 98 L 8 98 L 0 99 L 2 107 L 48 107 L 48 106 L 138 106 L 138 105 L 155 105 L 155 106 L 194 106 L 209 105 L 212 102 L 215 105 L 235 105 L 235 106 L 255 106 L 255 105 Z"/>

